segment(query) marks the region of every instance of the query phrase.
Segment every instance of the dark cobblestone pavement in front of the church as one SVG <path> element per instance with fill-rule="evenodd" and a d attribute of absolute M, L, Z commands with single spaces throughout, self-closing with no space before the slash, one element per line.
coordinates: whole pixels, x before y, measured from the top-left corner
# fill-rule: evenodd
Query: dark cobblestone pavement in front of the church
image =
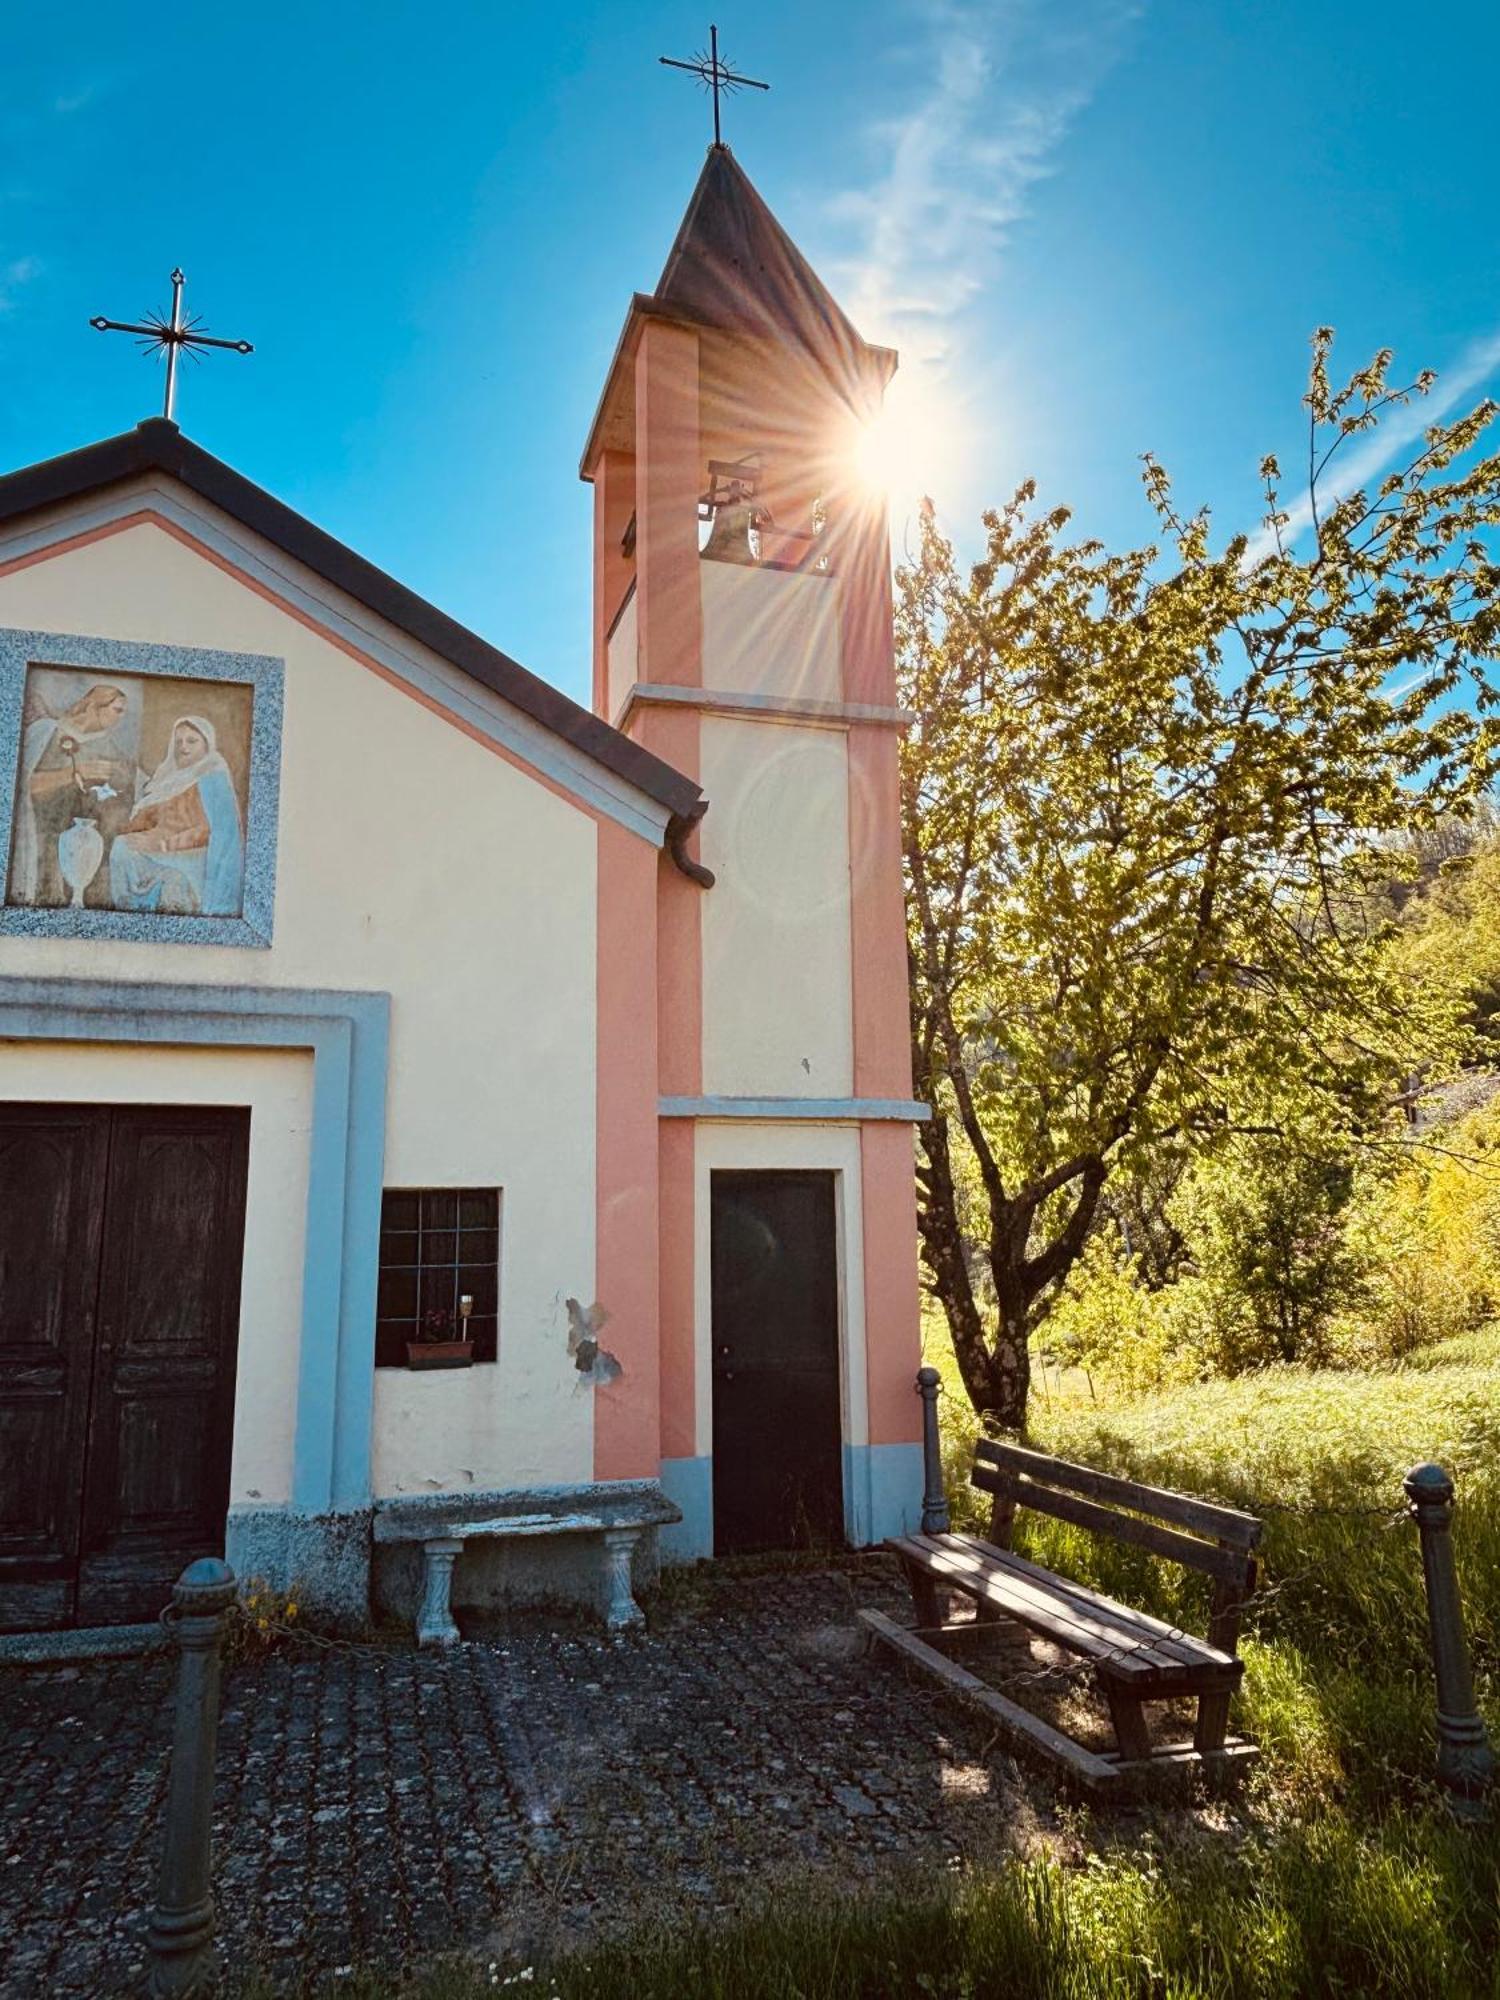
<path fill-rule="evenodd" d="M 866 1656 L 884 1558 L 694 1572 L 650 1638 L 532 1614 L 446 1656 L 310 1648 L 224 1686 L 224 1958 L 320 1984 L 440 1950 L 508 1964 L 810 1870 L 940 1868 L 1046 1812 L 986 1726 Z M 0 1992 L 116 1994 L 142 1964 L 172 1664 L 0 1670 Z"/>

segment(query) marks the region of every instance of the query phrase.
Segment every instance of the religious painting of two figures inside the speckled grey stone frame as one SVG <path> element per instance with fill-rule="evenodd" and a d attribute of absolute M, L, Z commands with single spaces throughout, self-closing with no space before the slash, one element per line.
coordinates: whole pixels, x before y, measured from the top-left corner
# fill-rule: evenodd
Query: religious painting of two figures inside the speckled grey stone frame
<path fill-rule="evenodd" d="M 6 902 L 240 916 L 254 690 L 26 672 Z"/>

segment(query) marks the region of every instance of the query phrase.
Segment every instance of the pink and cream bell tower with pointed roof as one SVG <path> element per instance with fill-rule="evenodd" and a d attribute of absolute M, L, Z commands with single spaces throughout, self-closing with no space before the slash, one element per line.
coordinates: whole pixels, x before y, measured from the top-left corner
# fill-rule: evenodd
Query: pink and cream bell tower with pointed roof
<path fill-rule="evenodd" d="M 682 1556 L 874 1542 L 920 1508 L 906 718 L 886 504 L 854 472 L 894 368 L 714 144 L 580 466 L 594 710 L 708 796 L 658 894 Z"/>

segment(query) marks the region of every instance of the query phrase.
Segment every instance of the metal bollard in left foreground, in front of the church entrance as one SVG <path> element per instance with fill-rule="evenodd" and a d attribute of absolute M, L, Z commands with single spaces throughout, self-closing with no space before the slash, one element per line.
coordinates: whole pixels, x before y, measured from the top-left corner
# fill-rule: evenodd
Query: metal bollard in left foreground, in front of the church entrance
<path fill-rule="evenodd" d="M 152 2000 L 198 1992 L 214 1968 L 214 1752 L 218 1746 L 218 1648 L 234 1602 L 234 1570 L 216 1556 L 190 1562 L 172 1586 L 170 1622 L 180 1648 L 172 1768 L 156 1908 L 146 1932 Z"/>

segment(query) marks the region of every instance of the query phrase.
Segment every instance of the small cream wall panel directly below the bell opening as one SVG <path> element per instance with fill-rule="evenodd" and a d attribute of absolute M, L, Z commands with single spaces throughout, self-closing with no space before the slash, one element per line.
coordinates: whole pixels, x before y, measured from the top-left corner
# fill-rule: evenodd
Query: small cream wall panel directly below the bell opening
<path fill-rule="evenodd" d="M 836 702 L 838 578 L 700 562 L 704 686 Z"/>

